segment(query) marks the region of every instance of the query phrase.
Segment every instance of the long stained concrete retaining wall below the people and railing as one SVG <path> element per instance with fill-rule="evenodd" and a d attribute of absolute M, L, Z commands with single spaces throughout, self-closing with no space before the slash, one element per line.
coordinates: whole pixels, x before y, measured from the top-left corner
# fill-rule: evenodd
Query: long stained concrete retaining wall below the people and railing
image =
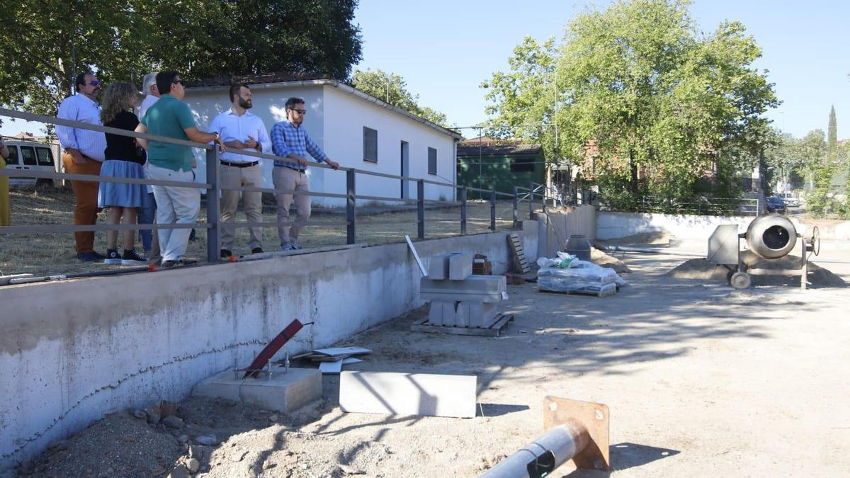
<path fill-rule="evenodd" d="M 524 224 L 536 250 L 534 221 Z M 416 242 L 423 259 L 484 253 L 506 270 L 507 232 Z M 294 318 L 280 351 L 346 339 L 420 304 L 405 244 L 0 288 L 0 470 L 105 413 L 180 401 L 253 356 Z"/>

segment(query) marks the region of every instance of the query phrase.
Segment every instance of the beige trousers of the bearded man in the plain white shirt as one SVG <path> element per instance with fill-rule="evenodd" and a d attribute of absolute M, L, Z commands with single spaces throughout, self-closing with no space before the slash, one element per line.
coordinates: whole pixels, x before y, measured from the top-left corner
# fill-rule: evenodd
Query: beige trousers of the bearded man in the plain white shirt
<path fill-rule="evenodd" d="M 218 184 L 223 189 L 250 186 L 263 187 L 263 176 L 260 166 L 255 164 L 247 168 L 225 166 L 218 168 Z M 239 208 L 239 191 L 221 191 L 221 248 L 233 250 L 236 228 L 232 223 L 236 220 L 236 210 Z M 242 209 L 248 222 L 263 222 L 263 193 L 242 192 Z M 228 224 L 231 223 L 231 224 Z M 248 247 L 263 247 L 263 228 L 248 228 L 250 239 Z"/>

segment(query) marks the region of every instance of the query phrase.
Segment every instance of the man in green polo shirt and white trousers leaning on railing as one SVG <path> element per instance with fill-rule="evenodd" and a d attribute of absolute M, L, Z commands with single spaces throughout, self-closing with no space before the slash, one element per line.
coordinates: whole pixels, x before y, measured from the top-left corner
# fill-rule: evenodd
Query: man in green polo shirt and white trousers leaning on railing
<path fill-rule="evenodd" d="M 218 134 L 204 133 L 195 127 L 195 117 L 183 101 L 186 90 L 177 71 L 161 71 L 156 74 L 156 88 L 160 99 L 144 113 L 136 131 L 156 134 L 173 139 L 186 139 L 197 143 L 214 141 L 224 151 Z M 148 175 L 150 179 L 192 182 L 192 149 L 190 146 L 174 145 L 161 141 L 139 139 L 139 145 L 148 151 Z M 201 209 L 201 190 L 178 186 L 151 187 L 156 199 L 156 222 L 158 224 L 191 224 Z M 158 230 L 162 267 L 183 265 L 183 254 L 189 242 L 190 229 Z"/>

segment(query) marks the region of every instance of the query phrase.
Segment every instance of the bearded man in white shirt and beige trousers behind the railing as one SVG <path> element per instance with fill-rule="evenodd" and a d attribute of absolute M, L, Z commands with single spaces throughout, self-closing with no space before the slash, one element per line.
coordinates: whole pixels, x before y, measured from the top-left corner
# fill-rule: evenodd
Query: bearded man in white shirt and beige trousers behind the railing
<path fill-rule="evenodd" d="M 239 206 L 239 191 L 226 191 L 228 188 L 250 186 L 263 187 L 260 174 L 260 162 L 257 157 L 239 154 L 239 150 L 258 152 L 271 151 L 271 139 L 263 120 L 248 110 L 253 106 L 251 89 L 244 83 L 237 83 L 229 90 L 230 109 L 212 120 L 210 131 L 221 136 L 228 150 L 221 154 L 221 166 L 218 172 L 218 184 L 221 191 L 221 257 L 229 258 L 233 253 L 235 227 L 227 225 L 236 219 Z M 263 193 L 242 192 L 242 208 L 249 222 L 263 221 Z M 248 246 L 251 253 L 263 252 L 263 228 L 249 228 L 251 238 Z"/>

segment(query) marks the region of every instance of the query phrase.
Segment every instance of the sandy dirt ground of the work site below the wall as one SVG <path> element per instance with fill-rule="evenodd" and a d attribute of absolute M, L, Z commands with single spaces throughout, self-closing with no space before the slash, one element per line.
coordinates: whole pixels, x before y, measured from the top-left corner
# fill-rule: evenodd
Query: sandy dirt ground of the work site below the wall
<path fill-rule="evenodd" d="M 621 259 L 630 285 L 604 299 L 508 286 L 501 309 L 516 321 L 500 338 L 411 333 L 422 309 L 345 342 L 375 351 L 346 369 L 476 375 L 476 418 L 342 413 L 338 377 L 326 375 L 324 399 L 292 417 L 196 399 L 178 410 L 182 429 L 117 413 L 23 475 L 165 476 L 177 466 L 177 476 L 191 453 L 205 477 L 342 476 L 340 464 L 368 476 L 475 476 L 541 435 L 546 395 L 611 414 L 614 470 L 568 463 L 554 476 L 847 475 L 850 288 L 734 291 L 667 276 L 682 258 Z M 825 266 L 850 279 L 850 265 Z M 210 433 L 218 445 L 180 443 Z"/>

